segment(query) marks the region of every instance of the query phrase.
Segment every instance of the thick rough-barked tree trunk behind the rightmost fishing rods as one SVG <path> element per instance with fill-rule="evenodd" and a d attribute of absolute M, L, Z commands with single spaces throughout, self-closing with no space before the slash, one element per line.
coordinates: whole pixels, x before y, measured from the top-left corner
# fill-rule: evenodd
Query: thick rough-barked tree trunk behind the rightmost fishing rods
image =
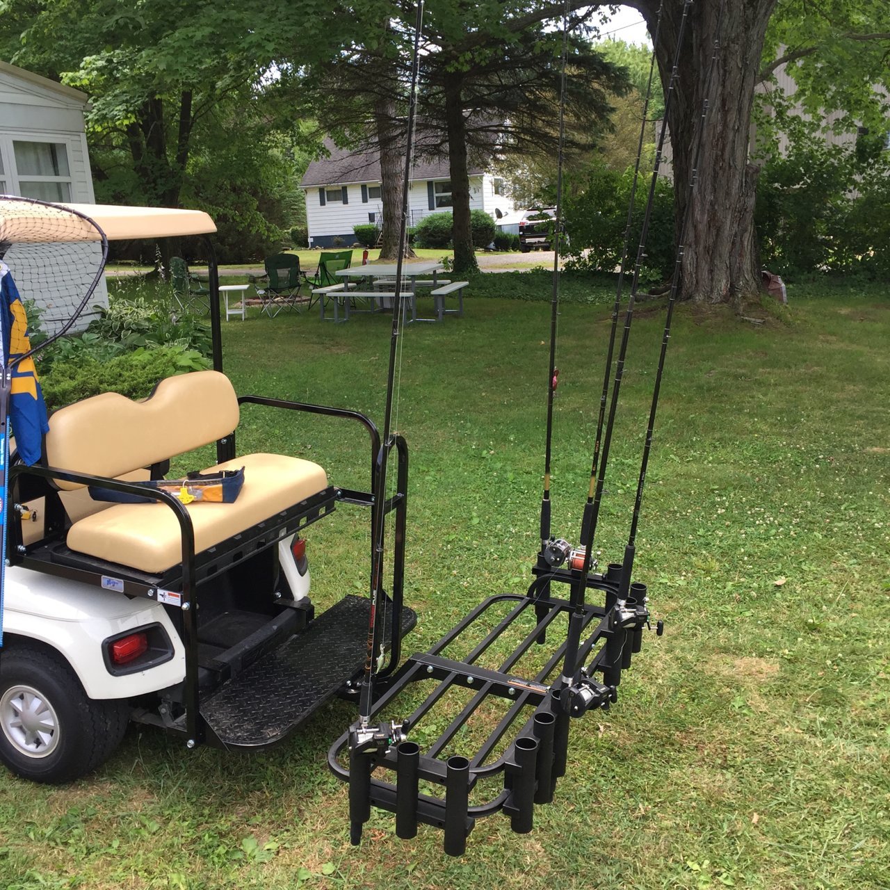
<path fill-rule="evenodd" d="M 686 235 L 683 296 L 702 302 L 740 305 L 760 288 L 754 198 L 758 166 L 748 160 L 754 103 L 766 25 L 776 0 L 724 0 L 693 3 L 675 95 L 667 112 L 673 155 L 677 231 L 683 220 L 692 179 L 708 64 L 720 27 L 720 48 L 711 77 L 708 118 L 701 144 L 698 182 Z M 655 33 L 658 3 L 637 0 L 650 33 Z M 662 84 L 674 63 L 683 0 L 665 0 L 659 44 L 655 47 Z M 723 20 L 718 22 L 720 7 Z"/>

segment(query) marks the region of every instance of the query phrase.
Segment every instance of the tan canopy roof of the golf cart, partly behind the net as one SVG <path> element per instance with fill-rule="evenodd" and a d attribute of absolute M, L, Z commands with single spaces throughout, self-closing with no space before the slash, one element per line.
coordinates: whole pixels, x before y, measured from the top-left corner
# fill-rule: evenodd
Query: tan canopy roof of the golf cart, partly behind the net
<path fill-rule="evenodd" d="M 109 241 L 171 238 L 204 235 L 216 231 L 214 221 L 202 210 L 174 210 L 170 207 L 128 207 L 111 204 L 64 204 L 78 214 L 92 219 Z M 67 226 L 60 237 L 52 225 L 35 225 L 42 218 L 53 217 L 50 206 L 6 198 L 0 201 L 0 242 L 98 240 L 93 227 Z"/>

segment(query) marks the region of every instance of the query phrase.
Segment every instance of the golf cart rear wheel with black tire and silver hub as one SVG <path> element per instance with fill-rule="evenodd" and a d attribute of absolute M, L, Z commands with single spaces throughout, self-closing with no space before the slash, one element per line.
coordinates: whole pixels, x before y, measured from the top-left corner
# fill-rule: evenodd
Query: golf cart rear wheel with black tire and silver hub
<path fill-rule="evenodd" d="M 125 703 L 87 697 L 50 649 L 0 651 L 0 761 L 31 781 L 61 783 L 89 773 L 124 737 Z"/>

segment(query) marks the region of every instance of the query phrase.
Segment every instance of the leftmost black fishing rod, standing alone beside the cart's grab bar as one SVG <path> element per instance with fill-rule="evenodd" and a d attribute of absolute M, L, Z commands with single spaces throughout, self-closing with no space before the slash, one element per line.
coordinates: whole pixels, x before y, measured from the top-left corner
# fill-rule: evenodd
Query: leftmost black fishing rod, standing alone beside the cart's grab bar
<path fill-rule="evenodd" d="M 392 300 L 392 336 L 390 337 L 389 368 L 386 376 L 386 408 L 384 411 L 384 431 L 380 451 L 376 462 L 376 485 L 374 503 L 374 521 L 372 534 L 374 550 L 371 565 L 371 611 L 368 619 L 368 652 L 365 660 L 364 677 L 360 686 L 359 696 L 359 722 L 362 728 L 368 727 L 371 706 L 374 700 L 374 674 L 376 659 L 378 657 L 377 640 L 384 639 L 384 609 L 385 594 L 383 587 L 383 563 L 384 563 L 384 520 L 385 520 L 385 491 L 386 491 L 386 465 L 389 451 L 392 449 L 394 437 L 392 434 L 392 401 L 395 389 L 396 358 L 399 347 L 400 321 L 401 321 L 401 291 L 402 264 L 404 261 L 406 235 L 408 231 L 408 207 L 409 186 L 411 169 L 414 163 L 414 131 L 417 124 L 417 79 L 420 69 L 420 33 L 424 19 L 424 0 L 417 4 L 417 18 L 415 20 L 414 48 L 411 57 L 411 86 L 408 109 L 408 147 L 405 150 L 405 178 L 402 182 L 401 220 L 399 223 L 399 258 L 396 261 L 394 297 Z M 383 608 L 381 608 L 383 607 Z M 398 628 L 394 628 L 398 633 Z M 383 646 L 383 643 L 380 643 Z"/>

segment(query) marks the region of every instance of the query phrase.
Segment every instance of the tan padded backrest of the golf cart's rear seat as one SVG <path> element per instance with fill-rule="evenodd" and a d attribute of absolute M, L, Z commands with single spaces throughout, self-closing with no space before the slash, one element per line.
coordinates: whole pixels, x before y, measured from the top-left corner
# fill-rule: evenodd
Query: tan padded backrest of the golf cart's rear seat
<path fill-rule="evenodd" d="M 50 417 L 48 465 L 116 477 L 200 448 L 234 432 L 238 397 L 218 371 L 167 377 L 145 401 L 104 392 Z M 61 489 L 82 488 L 56 480 Z"/>

